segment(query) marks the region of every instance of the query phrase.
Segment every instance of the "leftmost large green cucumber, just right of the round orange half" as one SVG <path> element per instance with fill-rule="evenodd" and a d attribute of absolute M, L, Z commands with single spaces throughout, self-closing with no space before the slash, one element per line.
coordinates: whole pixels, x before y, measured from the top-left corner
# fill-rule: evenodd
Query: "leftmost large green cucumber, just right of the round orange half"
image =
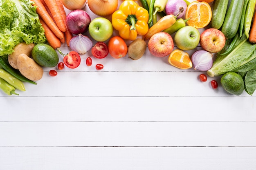
<path fill-rule="evenodd" d="M 228 4 L 229 0 L 213 1 L 212 17 L 210 23 L 212 28 L 220 29 L 225 19 Z"/>

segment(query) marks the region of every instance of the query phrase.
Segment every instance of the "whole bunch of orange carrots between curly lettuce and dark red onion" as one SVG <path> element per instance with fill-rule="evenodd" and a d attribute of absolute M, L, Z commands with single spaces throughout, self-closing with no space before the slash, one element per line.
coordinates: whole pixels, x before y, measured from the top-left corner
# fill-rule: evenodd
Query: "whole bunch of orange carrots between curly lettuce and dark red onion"
<path fill-rule="evenodd" d="M 72 33 L 66 26 L 66 12 L 61 0 L 32 0 L 36 6 L 40 23 L 45 29 L 45 37 L 52 48 L 61 47 L 61 43 L 69 46 Z"/>

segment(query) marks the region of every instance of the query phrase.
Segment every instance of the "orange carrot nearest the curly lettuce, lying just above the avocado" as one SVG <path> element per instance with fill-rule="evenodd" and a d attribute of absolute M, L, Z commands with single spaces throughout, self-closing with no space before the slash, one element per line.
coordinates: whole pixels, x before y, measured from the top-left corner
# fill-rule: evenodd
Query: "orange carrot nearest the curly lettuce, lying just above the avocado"
<path fill-rule="evenodd" d="M 60 48 L 61 47 L 60 39 L 52 32 L 52 30 L 49 28 L 49 26 L 47 26 L 47 24 L 44 22 L 44 20 L 41 17 L 39 17 L 39 20 L 43 28 L 45 29 L 45 37 L 49 45 L 54 49 Z"/>

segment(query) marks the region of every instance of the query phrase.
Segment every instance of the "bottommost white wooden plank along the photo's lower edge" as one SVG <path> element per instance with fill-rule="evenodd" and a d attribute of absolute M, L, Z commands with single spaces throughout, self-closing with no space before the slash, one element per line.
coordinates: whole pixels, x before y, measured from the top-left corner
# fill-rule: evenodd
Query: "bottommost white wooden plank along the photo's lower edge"
<path fill-rule="evenodd" d="M 254 170 L 255 147 L 0 147 L 1 170 Z"/>

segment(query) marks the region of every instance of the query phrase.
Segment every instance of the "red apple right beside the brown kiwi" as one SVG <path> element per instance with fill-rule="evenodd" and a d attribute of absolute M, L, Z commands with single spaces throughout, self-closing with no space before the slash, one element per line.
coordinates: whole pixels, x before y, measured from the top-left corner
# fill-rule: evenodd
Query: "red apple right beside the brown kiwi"
<path fill-rule="evenodd" d="M 148 50 L 155 57 L 165 57 L 173 48 L 173 38 L 165 32 L 155 33 L 148 41 Z"/>

